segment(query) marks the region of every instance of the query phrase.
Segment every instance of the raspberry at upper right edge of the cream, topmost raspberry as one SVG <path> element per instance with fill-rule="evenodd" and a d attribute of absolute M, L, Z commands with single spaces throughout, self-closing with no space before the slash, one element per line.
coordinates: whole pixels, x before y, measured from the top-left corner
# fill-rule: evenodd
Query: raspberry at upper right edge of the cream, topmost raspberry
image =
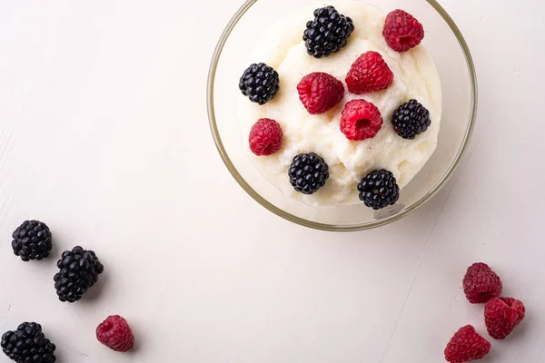
<path fill-rule="evenodd" d="M 391 49 L 407 52 L 424 39 L 424 27 L 414 16 L 398 9 L 386 16 L 382 35 Z"/>

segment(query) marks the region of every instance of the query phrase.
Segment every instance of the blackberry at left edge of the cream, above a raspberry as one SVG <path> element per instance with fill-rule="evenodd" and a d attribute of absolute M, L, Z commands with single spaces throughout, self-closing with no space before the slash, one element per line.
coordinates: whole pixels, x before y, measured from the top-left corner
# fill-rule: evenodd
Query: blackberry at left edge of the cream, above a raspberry
<path fill-rule="evenodd" d="M 280 77 L 267 64 L 252 64 L 244 71 L 239 88 L 253 103 L 265 104 L 278 93 Z"/>

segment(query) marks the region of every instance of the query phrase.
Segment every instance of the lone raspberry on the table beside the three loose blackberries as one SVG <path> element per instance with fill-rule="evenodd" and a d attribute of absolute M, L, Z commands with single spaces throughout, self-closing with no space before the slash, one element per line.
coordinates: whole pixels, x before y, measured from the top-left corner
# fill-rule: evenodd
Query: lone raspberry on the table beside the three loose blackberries
<path fill-rule="evenodd" d="M 119 315 L 106 318 L 96 327 L 96 338 L 108 348 L 125 352 L 134 346 L 134 335 L 127 320 Z"/>

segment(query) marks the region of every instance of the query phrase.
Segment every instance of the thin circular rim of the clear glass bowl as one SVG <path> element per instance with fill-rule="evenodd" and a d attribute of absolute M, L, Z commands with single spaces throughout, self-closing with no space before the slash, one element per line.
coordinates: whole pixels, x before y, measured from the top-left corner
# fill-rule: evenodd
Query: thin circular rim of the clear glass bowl
<path fill-rule="evenodd" d="M 435 186 L 431 189 L 431 191 L 428 191 L 424 196 L 421 197 L 419 201 L 412 203 L 411 206 L 409 206 L 407 209 L 389 218 L 385 218 L 379 221 L 366 222 L 365 224 L 334 225 L 334 224 L 308 221 L 301 217 L 294 216 L 287 211 L 282 211 L 282 209 L 276 207 L 270 201 L 265 200 L 257 191 L 253 190 L 250 184 L 248 184 L 248 182 L 244 180 L 243 176 L 236 170 L 235 166 L 233 165 L 233 162 L 231 162 L 231 159 L 223 146 L 222 138 L 220 136 L 220 132 L 218 130 L 216 119 L 215 119 L 213 89 L 214 89 L 217 65 L 222 55 L 223 46 L 227 42 L 229 35 L 233 32 L 234 26 L 237 25 L 237 23 L 243 17 L 243 15 L 246 14 L 246 12 L 258 1 L 259 0 L 247 0 L 244 3 L 244 5 L 233 15 L 228 25 L 223 30 L 223 33 L 220 36 L 220 40 L 216 44 L 216 47 L 213 52 L 212 62 L 210 64 L 210 68 L 208 71 L 208 81 L 206 84 L 206 103 L 207 103 L 206 106 L 208 110 L 208 121 L 210 123 L 210 129 L 212 131 L 213 141 L 215 142 L 216 148 L 218 152 L 220 153 L 220 156 L 223 160 L 223 163 L 227 167 L 227 170 L 231 172 L 231 175 L 233 175 L 234 180 L 239 183 L 239 185 L 243 188 L 243 190 L 246 191 L 255 201 L 260 203 L 264 208 L 266 208 L 269 211 L 272 211 L 274 214 L 282 217 L 283 219 L 287 221 L 292 221 L 293 223 L 302 225 L 304 227 L 309 227 L 309 228 L 312 228 L 315 230 L 321 230 L 321 231 L 363 231 L 363 230 L 370 230 L 376 227 L 381 227 L 393 221 L 401 220 L 401 218 L 409 215 L 412 211 L 416 211 L 418 208 L 421 207 L 421 205 L 423 205 L 426 201 L 431 200 L 433 196 L 435 196 L 439 191 L 441 191 L 441 189 L 445 186 L 445 184 L 451 179 L 452 173 L 460 165 L 461 159 L 464 153 L 466 152 L 468 145 L 471 141 L 471 134 L 473 133 L 473 129 L 475 127 L 475 119 L 477 115 L 478 97 L 477 97 L 477 76 L 475 74 L 475 64 L 473 63 L 473 58 L 471 57 L 471 52 L 468 47 L 468 44 L 466 43 L 463 35 L 461 34 L 461 31 L 458 28 L 458 25 L 456 25 L 454 21 L 452 20 L 451 15 L 448 15 L 447 12 L 443 9 L 441 5 L 439 5 L 439 3 L 436 0 L 425 0 L 425 1 L 429 5 L 431 5 L 435 9 L 435 11 L 439 15 L 441 15 L 441 17 L 447 23 L 447 25 L 449 25 L 452 33 L 454 34 L 454 36 L 456 36 L 458 43 L 461 46 L 461 50 L 463 54 L 465 55 L 466 64 L 470 74 L 471 113 L 470 113 L 470 124 L 469 124 L 469 127 L 466 129 L 463 142 L 461 144 L 461 148 L 456 154 L 456 158 L 451 163 L 449 170 L 441 177 L 441 180 L 437 184 L 435 184 Z"/>

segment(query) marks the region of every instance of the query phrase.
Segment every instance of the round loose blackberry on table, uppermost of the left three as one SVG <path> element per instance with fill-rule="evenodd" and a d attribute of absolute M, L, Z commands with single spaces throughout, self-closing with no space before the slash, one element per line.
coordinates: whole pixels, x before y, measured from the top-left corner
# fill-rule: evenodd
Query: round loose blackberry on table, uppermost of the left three
<path fill-rule="evenodd" d="M 51 231 L 41 221 L 24 221 L 12 234 L 12 248 L 21 260 L 42 260 L 51 250 Z"/>

